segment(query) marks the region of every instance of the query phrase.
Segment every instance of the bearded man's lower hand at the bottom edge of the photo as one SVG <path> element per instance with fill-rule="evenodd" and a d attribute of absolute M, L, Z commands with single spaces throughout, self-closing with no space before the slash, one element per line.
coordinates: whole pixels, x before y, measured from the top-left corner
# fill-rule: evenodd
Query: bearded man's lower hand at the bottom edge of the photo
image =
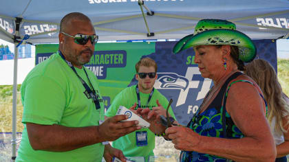
<path fill-rule="evenodd" d="M 123 162 L 127 161 L 122 151 L 111 147 L 110 144 L 105 145 L 105 152 L 103 154 L 103 157 L 107 162 L 111 162 L 114 157 L 117 157 Z"/>

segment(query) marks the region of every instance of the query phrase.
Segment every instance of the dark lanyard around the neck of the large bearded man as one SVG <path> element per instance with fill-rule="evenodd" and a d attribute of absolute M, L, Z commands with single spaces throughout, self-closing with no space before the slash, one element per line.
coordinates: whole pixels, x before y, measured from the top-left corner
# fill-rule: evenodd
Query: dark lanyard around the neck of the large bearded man
<path fill-rule="evenodd" d="M 59 51 L 59 55 L 61 56 L 61 58 L 63 58 L 63 60 L 65 60 L 65 57 L 63 56 L 63 54 L 61 53 L 61 51 Z M 99 102 L 101 102 L 100 100 L 98 100 L 99 95 L 96 94 L 96 91 L 94 90 L 94 86 L 92 86 L 92 82 L 90 82 L 89 77 L 87 75 L 87 72 L 85 71 L 85 68 L 83 67 L 84 71 L 85 71 L 85 75 L 87 76 L 87 79 L 89 81 L 89 84 L 92 86 L 92 89 L 90 89 L 90 87 L 86 84 L 86 82 L 83 80 L 83 78 L 81 78 L 81 76 L 78 76 L 78 73 L 76 72 L 76 69 L 74 68 L 74 66 L 72 65 L 72 62 L 69 62 L 67 60 L 65 60 L 65 62 L 67 63 L 67 65 L 72 68 L 72 70 L 74 71 L 74 73 L 76 74 L 76 76 L 79 78 L 79 80 L 81 80 L 81 83 L 83 84 L 83 86 L 85 87 L 85 91 L 83 93 L 85 93 L 86 97 L 88 99 L 92 98 L 95 106 L 96 106 L 96 110 L 100 108 L 100 104 Z"/>

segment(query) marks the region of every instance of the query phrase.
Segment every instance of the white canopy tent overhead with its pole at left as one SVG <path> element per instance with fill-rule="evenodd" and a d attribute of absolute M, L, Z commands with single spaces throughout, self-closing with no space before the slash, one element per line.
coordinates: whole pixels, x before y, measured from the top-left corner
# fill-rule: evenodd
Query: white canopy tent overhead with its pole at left
<path fill-rule="evenodd" d="M 288 37 L 288 0 L 0 0 L 0 38 L 19 44 L 58 43 L 59 23 L 83 12 L 99 40 L 178 39 L 200 19 L 226 19 L 250 38 Z M 142 12 L 142 10 L 144 12 Z M 25 41 L 24 41 L 25 42 Z M 17 48 L 14 52 L 12 159 L 16 157 Z"/>

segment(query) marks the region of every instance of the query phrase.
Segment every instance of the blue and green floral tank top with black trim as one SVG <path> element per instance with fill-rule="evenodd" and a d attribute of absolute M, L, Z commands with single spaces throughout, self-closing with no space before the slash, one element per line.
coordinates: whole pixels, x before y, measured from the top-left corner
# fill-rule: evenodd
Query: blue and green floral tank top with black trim
<path fill-rule="evenodd" d="M 228 95 L 228 90 L 231 85 L 226 89 L 228 83 L 231 80 L 237 78 L 237 76 L 242 75 L 241 72 L 233 73 L 230 78 L 226 80 L 223 84 L 220 92 L 217 94 L 213 102 L 206 108 L 203 113 L 194 115 L 187 127 L 191 128 L 194 132 L 199 135 L 207 137 L 220 137 L 228 139 L 239 139 L 244 137 L 243 133 L 234 124 L 231 116 L 226 112 L 226 108 L 222 107 L 222 102 L 226 103 L 226 97 Z M 249 82 L 248 80 L 238 80 L 236 82 Z M 253 84 L 252 82 L 249 82 Z M 224 99 L 223 99 L 224 96 Z M 224 128 L 226 126 L 226 128 Z M 226 130 L 226 132 L 224 132 Z M 195 161 L 231 161 L 224 159 L 222 157 L 217 157 L 211 154 L 202 154 L 199 152 L 182 151 L 181 159 L 182 162 L 195 162 Z"/>

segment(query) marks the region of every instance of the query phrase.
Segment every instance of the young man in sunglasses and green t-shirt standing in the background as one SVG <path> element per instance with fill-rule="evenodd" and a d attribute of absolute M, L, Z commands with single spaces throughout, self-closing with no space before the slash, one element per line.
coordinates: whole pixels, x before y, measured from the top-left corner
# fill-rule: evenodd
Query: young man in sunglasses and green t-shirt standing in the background
<path fill-rule="evenodd" d="M 160 115 L 166 115 L 166 110 L 162 107 L 167 107 L 169 102 L 158 89 L 154 89 L 153 85 L 158 78 L 157 65 L 151 58 L 142 58 L 136 64 L 136 80 L 138 84 L 129 86 L 123 89 L 112 102 L 111 106 L 105 113 L 106 117 L 113 117 L 116 115 L 119 106 L 132 108 L 150 108 Z M 171 117 L 173 111 L 169 109 Z M 155 134 L 149 128 L 142 128 L 128 135 L 120 137 L 113 141 L 112 146 L 122 150 L 126 157 L 144 157 L 145 161 L 149 156 L 153 156 L 153 149 L 155 148 Z"/>

